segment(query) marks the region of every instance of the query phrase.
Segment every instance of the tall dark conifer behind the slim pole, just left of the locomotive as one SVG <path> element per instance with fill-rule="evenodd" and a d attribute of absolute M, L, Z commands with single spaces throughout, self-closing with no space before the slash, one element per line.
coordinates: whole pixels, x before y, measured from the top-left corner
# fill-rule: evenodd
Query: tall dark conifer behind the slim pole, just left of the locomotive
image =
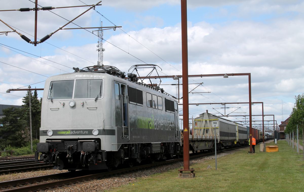
<path fill-rule="evenodd" d="M 41 122 L 41 101 L 42 99 L 38 99 L 38 93 L 35 90 L 34 94 L 31 93 L 31 110 L 32 110 L 32 133 L 33 137 L 38 139 L 39 138 L 39 128 Z M 22 105 L 24 114 L 22 119 L 26 120 L 26 125 L 29 127 L 29 92 L 26 92 L 26 96 L 23 97 Z"/>

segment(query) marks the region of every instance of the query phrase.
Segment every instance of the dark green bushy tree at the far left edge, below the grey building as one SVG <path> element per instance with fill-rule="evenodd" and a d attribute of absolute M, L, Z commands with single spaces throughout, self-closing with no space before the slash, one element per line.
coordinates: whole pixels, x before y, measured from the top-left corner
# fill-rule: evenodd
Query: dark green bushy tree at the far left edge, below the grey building
<path fill-rule="evenodd" d="M 5 146 L 22 147 L 29 141 L 29 131 L 26 128 L 26 121 L 20 118 L 23 114 L 22 108 L 10 107 L 3 109 L 5 117 L 0 119 L 0 148 Z"/>

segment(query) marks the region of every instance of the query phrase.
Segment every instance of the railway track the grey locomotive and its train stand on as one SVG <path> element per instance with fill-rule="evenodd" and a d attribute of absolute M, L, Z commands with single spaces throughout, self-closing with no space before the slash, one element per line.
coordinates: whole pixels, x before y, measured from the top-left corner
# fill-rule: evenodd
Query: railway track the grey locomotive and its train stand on
<path fill-rule="evenodd" d="M 247 147 L 247 146 L 243 146 L 243 147 Z M 238 147 L 238 148 L 242 148 L 242 147 Z M 218 153 L 226 152 L 229 150 L 235 150 L 238 148 L 225 149 L 222 151 L 218 151 Z M 208 156 L 208 155 L 213 155 L 213 154 L 214 154 L 214 152 L 201 153 L 201 154 L 197 154 L 197 155 L 191 155 L 190 158 L 198 158 L 198 157 L 203 157 L 203 156 Z M 136 167 L 113 170 L 113 171 L 105 171 L 105 172 L 100 172 L 100 170 L 95 171 L 95 172 L 78 170 L 78 171 L 74 171 L 74 172 L 57 173 L 57 174 L 52 174 L 52 175 L 40 176 L 40 177 L 4 181 L 4 182 L 0 182 L 0 191 L 8 192 L 8 191 L 45 190 L 45 189 L 56 188 L 56 187 L 65 186 L 65 185 L 71 185 L 71 184 L 83 182 L 83 181 L 90 180 L 90 179 L 109 177 L 111 175 L 126 173 L 126 172 L 130 172 L 130 171 L 135 171 L 135 170 L 147 169 L 150 167 L 161 166 L 164 164 L 173 163 L 173 162 L 182 161 L 182 160 L 183 160 L 183 158 L 178 158 L 178 159 L 172 159 L 172 160 L 168 160 L 168 161 L 155 162 L 152 164 L 140 165 L 140 166 L 136 166 Z"/>

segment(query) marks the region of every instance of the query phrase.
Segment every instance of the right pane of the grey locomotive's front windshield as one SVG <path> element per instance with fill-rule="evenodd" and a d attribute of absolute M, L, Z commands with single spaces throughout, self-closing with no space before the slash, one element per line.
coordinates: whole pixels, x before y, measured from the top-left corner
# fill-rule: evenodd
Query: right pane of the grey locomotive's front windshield
<path fill-rule="evenodd" d="M 102 97 L 102 79 L 76 80 L 74 99 L 95 99 Z"/>

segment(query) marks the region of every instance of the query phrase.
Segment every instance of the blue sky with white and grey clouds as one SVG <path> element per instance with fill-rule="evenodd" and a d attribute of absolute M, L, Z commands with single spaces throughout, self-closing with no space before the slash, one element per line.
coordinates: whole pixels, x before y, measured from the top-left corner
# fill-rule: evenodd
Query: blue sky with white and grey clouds
<path fill-rule="evenodd" d="M 33 8 L 33 1 L 2 0 L 0 9 Z M 39 0 L 38 4 L 63 7 L 97 2 Z M 100 4 L 64 28 L 98 27 L 100 22 L 102 26 L 122 26 L 103 32 L 104 65 L 129 73 L 133 65 L 154 64 L 159 66 L 156 69 L 161 76 L 182 74 L 180 1 L 104 0 Z M 87 9 L 38 11 L 37 38 L 55 32 Z M 1 11 L 0 19 L 34 41 L 34 15 L 34 11 Z M 188 0 L 188 74 L 251 73 L 252 102 L 264 102 L 264 114 L 275 115 L 280 124 L 292 112 L 295 96 L 304 92 L 303 16 L 304 1 L 299 0 Z M 0 35 L 0 104 L 23 104 L 24 91 L 6 93 L 7 89 L 29 85 L 43 88 L 47 77 L 74 72 L 73 67 L 96 65 L 98 36 L 93 30 L 59 30 L 37 46 L 27 43 L 16 32 Z M 12 30 L 0 22 L 0 31 Z M 149 72 L 150 69 L 140 69 L 139 75 L 146 76 Z M 157 75 L 155 70 L 152 75 Z M 160 83 L 159 79 L 152 81 Z M 188 82 L 189 92 L 198 86 L 189 93 L 189 103 L 249 101 L 248 76 L 198 77 L 189 78 Z M 174 79 L 162 79 L 161 87 L 176 96 L 176 86 L 170 85 L 176 83 Z M 38 93 L 42 97 L 43 91 Z M 208 110 L 216 115 L 243 115 L 226 118 L 248 121 L 248 104 L 227 104 L 226 113 L 223 107 L 190 105 L 189 117 L 195 118 Z M 261 113 L 261 104 L 252 105 L 253 115 Z M 253 120 L 257 121 L 253 127 L 259 127 L 261 116 L 253 116 Z"/>

